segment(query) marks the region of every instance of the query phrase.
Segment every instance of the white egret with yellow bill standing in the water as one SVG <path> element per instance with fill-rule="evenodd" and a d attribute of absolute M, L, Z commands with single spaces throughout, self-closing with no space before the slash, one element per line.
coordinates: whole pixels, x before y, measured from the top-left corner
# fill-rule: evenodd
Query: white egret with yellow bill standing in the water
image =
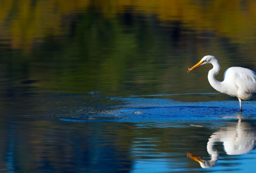
<path fill-rule="evenodd" d="M 242 111 L 242 100 L 250 100 L 256 95 L 256 73 L 242 67 L 230 67 L 224 73 L 224 79 L 219 82 L 215 76 L 220 71 L 220 63 L 215 56 L 204 56 L 187 72 L 191 72 L 200 65 L 211 63 L 213 68 L 208 72 L 208 80 L 211 86 L 221 93 L 237 97 Z"/>

